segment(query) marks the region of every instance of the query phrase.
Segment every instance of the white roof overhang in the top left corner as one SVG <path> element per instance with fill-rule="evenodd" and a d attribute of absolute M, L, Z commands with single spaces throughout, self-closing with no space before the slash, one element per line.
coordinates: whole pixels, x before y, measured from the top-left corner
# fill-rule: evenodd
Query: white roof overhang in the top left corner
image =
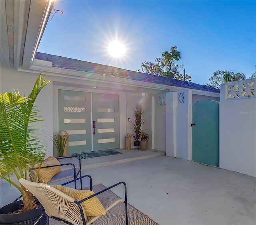
<path fill-rule="evenodd" d="M 30 69 L 54 0 L 6 0 L 1 8 L 1 65 Z"/>

